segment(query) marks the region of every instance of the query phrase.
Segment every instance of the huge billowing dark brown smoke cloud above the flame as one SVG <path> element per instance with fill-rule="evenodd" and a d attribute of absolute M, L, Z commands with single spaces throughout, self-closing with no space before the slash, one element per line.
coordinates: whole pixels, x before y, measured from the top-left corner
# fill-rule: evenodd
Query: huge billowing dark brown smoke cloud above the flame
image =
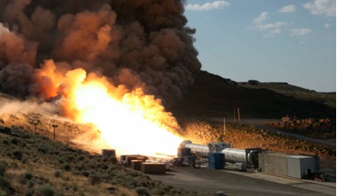
<path fill-rule="evenodd" d="M 0 90 L 39 96 L 37 69 L 82 67 L 174 103 L 200 70 L 182 0 L 2 0 Z"/>

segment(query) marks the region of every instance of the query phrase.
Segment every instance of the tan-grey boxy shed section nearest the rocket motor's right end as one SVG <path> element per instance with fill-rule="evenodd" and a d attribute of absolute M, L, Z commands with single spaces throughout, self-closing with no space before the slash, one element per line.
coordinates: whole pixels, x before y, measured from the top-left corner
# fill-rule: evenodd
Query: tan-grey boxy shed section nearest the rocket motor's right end
<path fill-rule="evenodd" d="M 288 166 L 286 154 L 259 154 L 259 167 L 262 172 L 288 176 Z"/>

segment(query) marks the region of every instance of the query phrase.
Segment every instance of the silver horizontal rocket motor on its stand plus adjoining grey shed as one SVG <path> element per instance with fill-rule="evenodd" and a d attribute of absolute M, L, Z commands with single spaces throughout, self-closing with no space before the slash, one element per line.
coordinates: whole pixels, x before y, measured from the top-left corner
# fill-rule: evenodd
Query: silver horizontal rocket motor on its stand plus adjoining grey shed
<path fill-rule="evenodd" d="M 311 178 L 320 172 L 319 157 L 309 155 L 268 153 L 261 148 L 236 149 L 227 143 L 193 144 L 187 140 L 180 144 L 175 165 L 196 166 L 197 159 L 204 159 L 208 168 L 224 169 L 226 163 L 236 165 L 236 170 L 244 172 L 248 168 L 268 174 Z"/>

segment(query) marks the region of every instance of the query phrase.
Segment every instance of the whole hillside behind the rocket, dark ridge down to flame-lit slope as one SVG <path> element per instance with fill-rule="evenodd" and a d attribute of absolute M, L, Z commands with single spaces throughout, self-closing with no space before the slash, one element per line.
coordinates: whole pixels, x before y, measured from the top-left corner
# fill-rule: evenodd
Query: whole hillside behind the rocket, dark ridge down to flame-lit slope
<path fill-rule="evenodd" d="M 272 152 L 319 155 L 322 167 L 335 168 L 335 145 L 313 144 L 290 138 L 281 132 L 335 142 L 335 100 L 333 92 L 315 92 L 285 82 L 261 83 L 250 80 L 238 83 L 200 71 L 196 84 L 175 107 L 171 107 L 171 111 L 185 130 L 183 135 L 199 143 L 222 140 L 236 148 L 261 147 Z M 237 108 L 240 122 L 237 119 Z M 224 117 L 227 121 L 225 135 Z M 282 117 L 295 117 L 302 121 L 318 121 L 322 118 L 328 119 L 329 124 L 318 128 L 316 124 L 305 128 L 298 124 L 281 131 L 271 131 L 277 126 L 267 122 L 281 124 Z M 246 124 L 245 120 L 259 123 Z"/>

